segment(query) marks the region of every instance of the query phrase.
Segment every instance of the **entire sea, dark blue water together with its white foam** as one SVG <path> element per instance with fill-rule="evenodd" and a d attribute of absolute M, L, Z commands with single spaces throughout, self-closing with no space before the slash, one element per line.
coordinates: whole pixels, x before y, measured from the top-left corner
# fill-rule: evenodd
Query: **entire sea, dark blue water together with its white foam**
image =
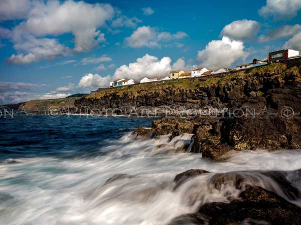
<path fill-rule="evenodd" d="M 243 151 L 213 162 L 178 151 L 192 134 L 171 141 L 170 135 L 148 139 L 131 134 L 138 126 L 150 127 L 153 119 L 0 118 L 0 225 L 165 225 L 196 212 L 202 203 L 238 197 L 235 186 L 212 189 L 209 180 L 216 172 L 301 167 L 298 150 Z M 175 175 L 192 168 L 211 173 L 174 190 Z M 273 180 L 259 181 L 283 196 Z"/>

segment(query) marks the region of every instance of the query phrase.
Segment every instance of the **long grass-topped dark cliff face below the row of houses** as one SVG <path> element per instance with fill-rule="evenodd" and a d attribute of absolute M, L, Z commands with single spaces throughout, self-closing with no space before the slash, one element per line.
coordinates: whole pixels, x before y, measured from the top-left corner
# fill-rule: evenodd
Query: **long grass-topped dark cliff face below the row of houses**
<path fill-rule="evenodd" d="M 134 90 L 128 87 L 109 92 L 102 90 L 75 100 L 75 106 L 90 109 L 119 108 L 124 114 L 128 114 L 132 107 L 139 112 L 141 107 L 154 109 L 168 106 L 173 109 L 169 115 L 175 116 L 181 110 L 233 107 L 254 100 L 262 106 L 279 108 L 291 98 L 296 100 L 298 70 L 297 67 L 271 64 L 221 78 L 170 80 L 154 87 L 140 84 Z M 181 82 L 185 85 L 181 85 Z"/>

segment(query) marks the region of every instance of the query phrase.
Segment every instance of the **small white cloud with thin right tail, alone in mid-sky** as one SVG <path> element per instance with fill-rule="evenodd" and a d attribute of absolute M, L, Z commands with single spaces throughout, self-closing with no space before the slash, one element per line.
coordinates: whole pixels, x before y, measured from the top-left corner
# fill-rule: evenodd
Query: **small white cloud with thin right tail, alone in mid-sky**
<path fill-rule="evenodd" d="M 182 39 L 187 36 L 187 33 L 182 31 L 172 34 L 170 32 L 157 32 L 154 27 L 140 26 L 129 37 L 125 38 L 125 42 L 128 46 L 134 48 L 143 46 L 160 47 L 160 41 Z"/>

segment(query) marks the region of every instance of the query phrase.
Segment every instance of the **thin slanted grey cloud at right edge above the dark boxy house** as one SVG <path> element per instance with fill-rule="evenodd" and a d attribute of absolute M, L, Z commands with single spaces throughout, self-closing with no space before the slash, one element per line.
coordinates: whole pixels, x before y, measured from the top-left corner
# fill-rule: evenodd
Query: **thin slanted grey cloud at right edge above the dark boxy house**
<path fill-rule="evenodd" d="M 270 30 L 264 35 L 259 36 L 259 41 L 270 41 L 283 37 L 292 36 L 298 32 L 301 32 L 301 25 L 283 25 L 279 26 L 273 30 Z"/>

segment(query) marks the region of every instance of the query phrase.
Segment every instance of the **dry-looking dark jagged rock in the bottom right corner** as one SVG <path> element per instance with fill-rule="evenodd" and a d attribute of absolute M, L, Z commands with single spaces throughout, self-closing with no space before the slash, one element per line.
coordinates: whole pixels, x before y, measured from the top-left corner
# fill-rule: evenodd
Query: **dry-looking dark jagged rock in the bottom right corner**
<path fill-rule="evenodd" d="M 248 185 L 239 197 L 230 203 L 205 203 L 198 212 L 209 217 L 209 224 L 240 224 L 247 218 L 268 224 L 301 223 L 301 208 L 274 192 Z"/>

